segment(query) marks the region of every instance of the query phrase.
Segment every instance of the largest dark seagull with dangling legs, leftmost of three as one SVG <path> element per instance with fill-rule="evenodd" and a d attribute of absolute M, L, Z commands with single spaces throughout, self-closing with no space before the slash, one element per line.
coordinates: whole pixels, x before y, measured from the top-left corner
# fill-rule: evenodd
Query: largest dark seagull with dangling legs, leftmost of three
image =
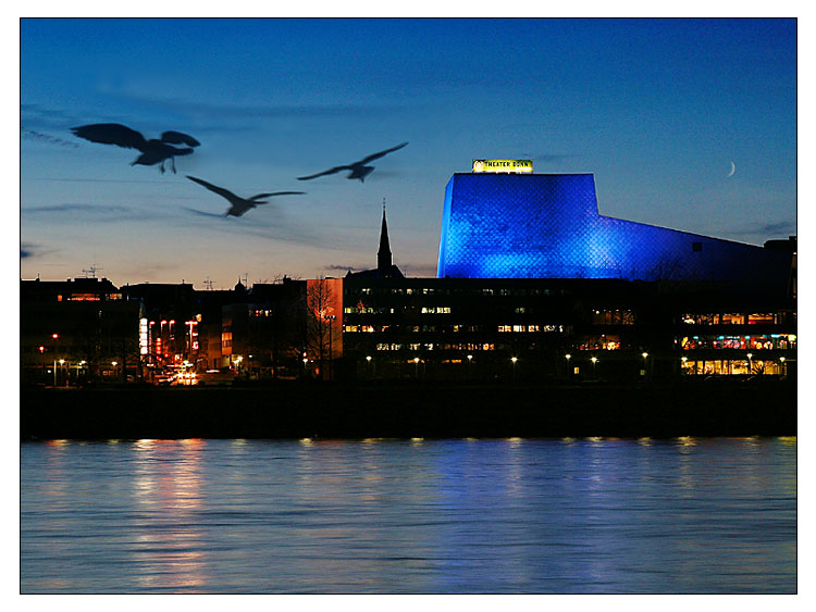
<path fill-rule="evenodd" d="M 102 145 L 116 145 L 127 149 L 137 149 L 141 154 L 136 158 L 131 165 L 154 165 L 161 162 L 162 174 L 164 174 L 164 162 L 170 160 L 175 174 L 175 160 L 177 155 L 189 155 L 193 152 L 190 147 L 198 147 L 200 142 L 187 134 L 181 132 L 165 132 L 161 138 L 151 138 L 147 140 L 135 129 L 120 123 L 94 123 L 79 127 L 72 127 L 71 130 L 75 136 L 85 138 L 91 142 Z M 187 145 L 185 148 L 172 147 L 171 145 Z"/>

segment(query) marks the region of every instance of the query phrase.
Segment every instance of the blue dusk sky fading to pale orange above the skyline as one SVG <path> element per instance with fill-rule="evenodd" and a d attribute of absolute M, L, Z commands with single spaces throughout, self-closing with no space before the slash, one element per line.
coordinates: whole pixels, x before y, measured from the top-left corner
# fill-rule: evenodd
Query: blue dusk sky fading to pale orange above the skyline
<path fill-rule="evenodd" d="M 762 245 L 796 233 L 796 22 L 23 20 L 21 275 L 230 288 L 394 261 L 434 276 L 471 160 L 593 173 L 601 214 Z M 177 174 L 71 128 L 200 142 Z M 296 177 L 409 145 L 346 173 Z M 242 197 L 240 217 L 188 180 Z M 210 215 L 200 214 L 210 213 Z"/>

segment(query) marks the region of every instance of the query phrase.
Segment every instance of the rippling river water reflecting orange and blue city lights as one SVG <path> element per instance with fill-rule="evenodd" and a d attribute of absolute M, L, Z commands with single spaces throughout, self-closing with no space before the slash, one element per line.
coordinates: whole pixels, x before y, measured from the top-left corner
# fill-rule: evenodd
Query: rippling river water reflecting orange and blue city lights
<path fill-rule="evenodd" d="M 21 446 L 21 591 L 795 592 L 795 438 Z"/>

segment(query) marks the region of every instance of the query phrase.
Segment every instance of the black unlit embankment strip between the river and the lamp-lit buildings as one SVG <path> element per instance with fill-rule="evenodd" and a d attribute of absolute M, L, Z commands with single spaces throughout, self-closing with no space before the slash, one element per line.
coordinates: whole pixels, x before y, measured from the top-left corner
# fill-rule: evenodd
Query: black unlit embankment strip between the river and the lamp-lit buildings
<path fill-rule="evenodd" d="M 786 382 L 21 391 L 22 439 L 794 436 Z"/>

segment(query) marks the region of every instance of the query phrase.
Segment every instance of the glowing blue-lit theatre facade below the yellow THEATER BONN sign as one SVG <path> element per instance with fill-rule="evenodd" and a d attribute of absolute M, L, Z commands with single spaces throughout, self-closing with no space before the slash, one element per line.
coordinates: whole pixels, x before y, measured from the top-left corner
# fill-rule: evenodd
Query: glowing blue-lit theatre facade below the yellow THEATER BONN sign
<path fill-rule="evenodd" d="M 455 174 L 438 277 L 788 283 L 791 257 L 598 214 L 592 174 Z"/>

